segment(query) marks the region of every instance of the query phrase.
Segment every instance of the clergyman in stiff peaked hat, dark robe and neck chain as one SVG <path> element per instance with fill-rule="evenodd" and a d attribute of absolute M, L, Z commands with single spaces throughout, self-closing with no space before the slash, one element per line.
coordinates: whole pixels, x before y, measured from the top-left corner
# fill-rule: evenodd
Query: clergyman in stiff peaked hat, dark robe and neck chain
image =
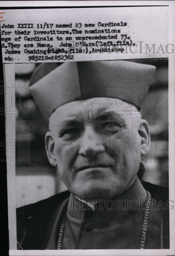
<path fill-rule="evenodd" d="M 141 184 L 155 67 L 132 61 L 42 63 L 30 91 L 67 191 L 17 209 L 18 249 L 169 248 L 162 211 Z"/>

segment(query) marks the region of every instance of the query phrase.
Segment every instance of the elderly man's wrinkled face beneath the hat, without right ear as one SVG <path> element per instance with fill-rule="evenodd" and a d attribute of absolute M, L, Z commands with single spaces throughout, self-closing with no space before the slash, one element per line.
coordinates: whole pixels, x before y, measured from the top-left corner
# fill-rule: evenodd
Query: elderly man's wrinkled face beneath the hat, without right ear
<path fill-rule="evenodd" d="M 112 98 L 107 109 L 106 100 L 93 98 L 58 107 L 46 133 L 50 163 L 57 166 L 68 190 L 85 199 L 120 195 L 134 182 L 140 163 L 139 112 L 116 111 Z M 99 123 L 100 130 L 92 122 Z M 112 123 L 115 127 L 110 128 Z"/>

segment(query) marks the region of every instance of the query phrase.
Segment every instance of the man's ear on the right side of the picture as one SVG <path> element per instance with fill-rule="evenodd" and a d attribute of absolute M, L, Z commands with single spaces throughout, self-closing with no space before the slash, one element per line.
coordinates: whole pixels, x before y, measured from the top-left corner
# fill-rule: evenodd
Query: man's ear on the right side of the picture
<path fill-rule="evenodd" d="M 148 156 L 149 152 L 149 128 L 146 120 L 141 119 L 141 121 L 139 122 L 138 133 L 141 137 L 141 157 L 145 158 L 146 156 Z"/>

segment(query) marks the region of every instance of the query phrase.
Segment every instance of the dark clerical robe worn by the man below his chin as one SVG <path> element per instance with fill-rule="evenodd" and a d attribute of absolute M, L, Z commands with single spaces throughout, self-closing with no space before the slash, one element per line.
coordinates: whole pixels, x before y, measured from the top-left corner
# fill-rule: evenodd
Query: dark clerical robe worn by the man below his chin
<path fill-rule="evenodd" d="M 69 192 L 17 209 L 19 249 L 57 250 L 67 213 L 62 249 L 140 249 L 146 190 L 136 178 L 124 193 L 108 201 L 84 202 Z M 169 248 L 168 212 L 152 201 L 145 249 Z M 94 208 L 94 209 L 93 209 Z"/>

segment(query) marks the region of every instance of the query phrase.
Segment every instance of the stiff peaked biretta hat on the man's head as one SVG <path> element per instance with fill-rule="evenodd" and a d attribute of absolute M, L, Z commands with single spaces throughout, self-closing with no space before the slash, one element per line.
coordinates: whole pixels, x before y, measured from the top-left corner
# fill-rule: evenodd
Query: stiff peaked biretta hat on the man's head
<path fill-rule="evenodd" d="M 46 120 L 59 106 L 96 97 L 122 99 L 140 109 L 155 72 L 155 66 L 131 61 L 58 65 L 40 64 L 30 80 L 29 90 Z"/>

